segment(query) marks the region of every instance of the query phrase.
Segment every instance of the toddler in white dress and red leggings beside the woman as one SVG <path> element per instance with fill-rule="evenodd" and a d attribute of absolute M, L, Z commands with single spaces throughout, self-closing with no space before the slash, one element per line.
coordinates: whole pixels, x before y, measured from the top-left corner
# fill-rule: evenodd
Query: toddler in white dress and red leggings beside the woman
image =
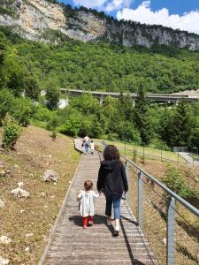
<path fill-rule="evenodd" d="M 99 193 L 93 190 L 93 182 L 86 180 L 84 183 L 84 190 L 80 191 L 77 195 L 77 200 L 80 201 L 80 216 L 83 217 L 83 228 L 88 225 L 93 225 L 94 216 L 94 198 L 99 197 Z"/>

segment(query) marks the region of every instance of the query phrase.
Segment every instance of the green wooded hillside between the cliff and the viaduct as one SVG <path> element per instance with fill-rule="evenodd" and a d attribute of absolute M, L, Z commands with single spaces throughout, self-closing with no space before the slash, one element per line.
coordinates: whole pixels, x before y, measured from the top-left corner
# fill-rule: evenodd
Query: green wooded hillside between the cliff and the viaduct
<path fill-rule="evenodd" d="M 54 33 L 55 39 L 57 34 Z M 19 86 L 15 84 L 11 89 L 19 92 L 24 86 L 21 81 L 28 74 L 34 76 L 40 89 L 49 79 L 54 79 L 58 87 L 118 92 L 136 92 L 143 82 L 152 93 L 199 87 L 199 52 L 168 47 L 127 48 L 110 43 L 75 42 L 61 37 L 63 42 L 57 46 L 28 42 L 11 34 L 10 29 L 2 28 L 0 50 L 4 53 L 4 71 L 1 75 L 10 72 L 11 79 L 17 79 L 19 72 L 11 67 L 12 59 L 16 68 L 20 65 L 23 69 Z M 26 89 L 33 87 L 33 82 L 30 85 L 27 81 L 25 83 Z M 0 85 L 7 86 L 6 77 L 2 78 Z"/>

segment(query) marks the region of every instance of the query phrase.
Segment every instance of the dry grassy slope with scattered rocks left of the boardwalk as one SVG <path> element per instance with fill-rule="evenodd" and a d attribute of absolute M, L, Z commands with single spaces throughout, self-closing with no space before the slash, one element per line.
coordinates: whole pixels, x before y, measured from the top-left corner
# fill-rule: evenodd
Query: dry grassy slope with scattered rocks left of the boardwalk
<path fill-rule="evenodd" d="M 0 199 L 6 204 L 0 208 L 0 236 L 13 240 L 0 245 L 0 254 L 11 264 L 30 265 L 39 260 L 79 159 L 71 139 L 59 134 L 54 142 L 50 132 L 33 125 L 24 129 L 16 151 L 0 153 L 0 170 L 11 170 L 9 176 L 0 178 Z M 57 186 L 42 181 L 47 169 L 57 170 Z M 19 181 L 24 182 L 30 199 L 17 200 L 11 194 Z M 47 193 L 46 198 L 42 192 Z M 26 236 L 28 233 L 33 236 Z"/>

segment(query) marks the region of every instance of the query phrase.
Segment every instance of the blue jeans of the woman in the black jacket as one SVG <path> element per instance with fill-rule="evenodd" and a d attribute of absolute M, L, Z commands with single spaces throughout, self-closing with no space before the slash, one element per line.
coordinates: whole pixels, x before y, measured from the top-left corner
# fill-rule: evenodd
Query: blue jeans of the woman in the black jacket
<path fill-rule="evenodd" d="M 109 194 L 106 197 L 105 215 L 111 216 L 111 209 L 113 204 L 114 219 L 120 219 L 120 201 L 122 194 Z"/>

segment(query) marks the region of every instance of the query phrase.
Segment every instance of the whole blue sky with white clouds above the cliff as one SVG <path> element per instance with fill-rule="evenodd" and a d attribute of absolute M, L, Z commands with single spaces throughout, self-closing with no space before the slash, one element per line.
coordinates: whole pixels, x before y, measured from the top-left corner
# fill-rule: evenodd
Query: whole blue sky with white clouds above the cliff
<path fill-rule="evenodd" d="M 180 28 L 199 34 L 199 0 L 59 0 L 104 11 L 117 19 Z"/>

